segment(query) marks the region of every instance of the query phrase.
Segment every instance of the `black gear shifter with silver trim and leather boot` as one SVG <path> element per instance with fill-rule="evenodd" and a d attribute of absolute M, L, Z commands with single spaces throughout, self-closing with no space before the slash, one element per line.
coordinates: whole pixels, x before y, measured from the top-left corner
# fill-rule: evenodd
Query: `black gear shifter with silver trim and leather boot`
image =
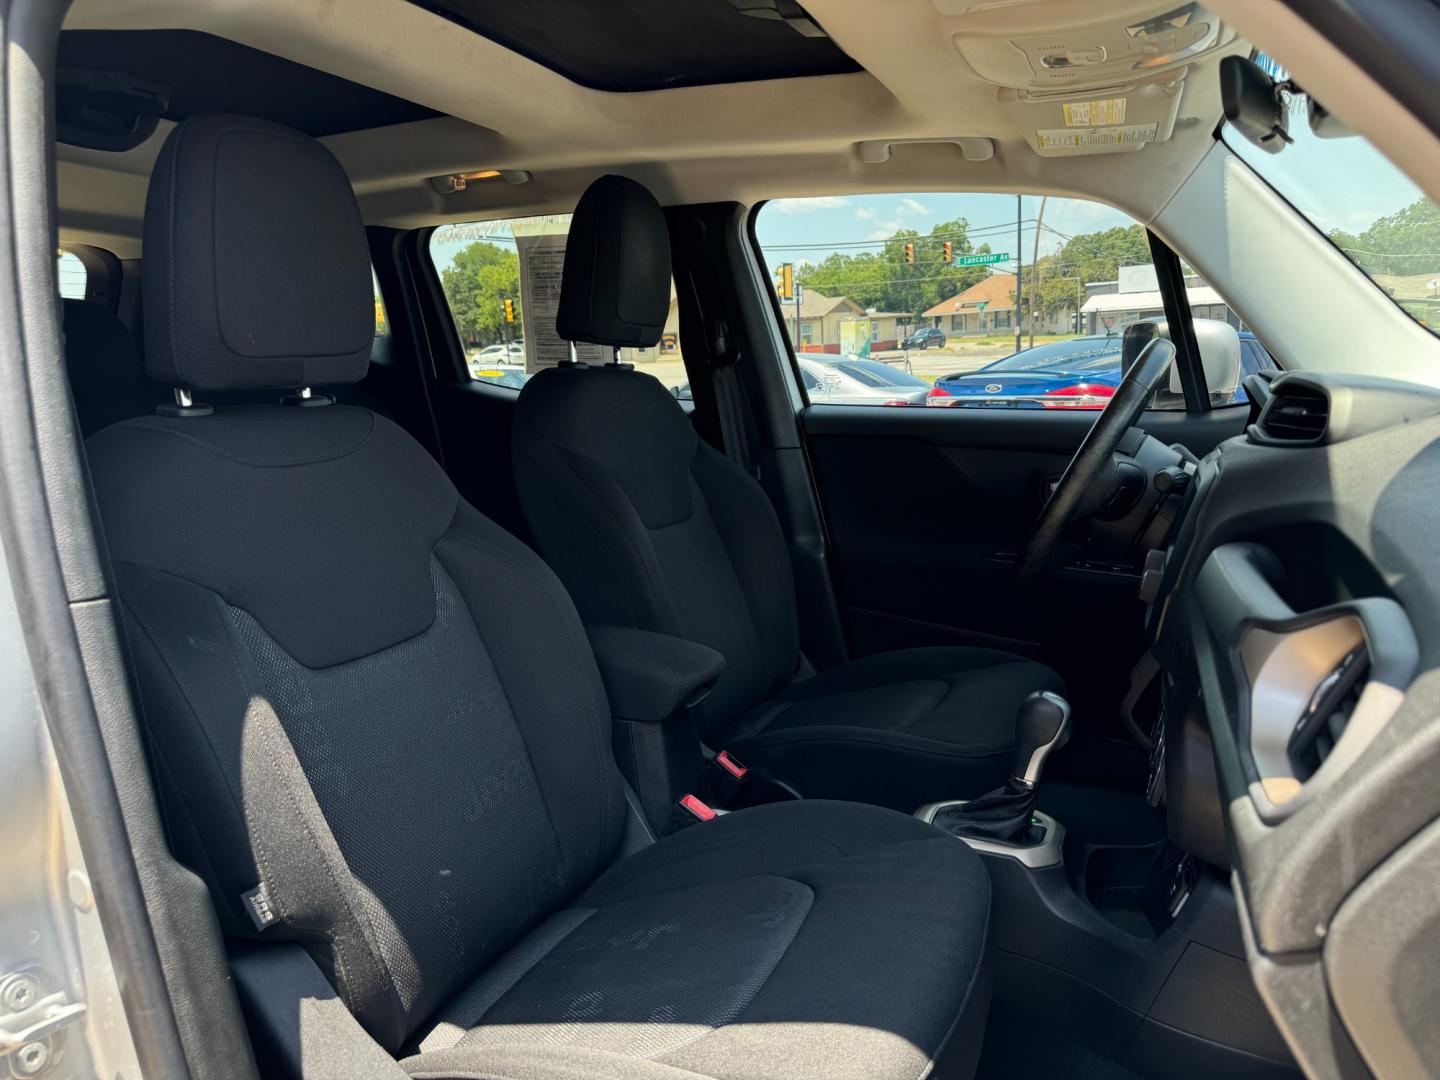
<path fill-rule="evenodd" d="M 1045 759 L 1070 737 L 1070 703 L 1060 694 L 1037 690 L 1020 706 L 1015 719 L 1015 756 L 1009 782 L 969 802 L 939 809 L 936 828 L 958 837 L 1024 842 L 1030 812 L 1035 808 L 1035 785 Z"/>

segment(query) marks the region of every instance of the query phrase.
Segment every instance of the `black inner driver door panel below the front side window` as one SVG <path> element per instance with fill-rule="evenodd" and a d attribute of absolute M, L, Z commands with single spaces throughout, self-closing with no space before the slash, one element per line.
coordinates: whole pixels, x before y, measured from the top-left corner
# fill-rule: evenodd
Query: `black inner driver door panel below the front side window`
<path fill-rule="evenodd" d="M 1120 736 L 1115 706 L 1143 648 L 1138 577 L 1067 569 L 1025 592 L 1008 562 L 1094 416 L 805 409 L 834 586 L 854 654 L 920 645 L 1022 652 L 1066 678 L 1080 726 Z M 1240 433 L 1244 416 L 1244 409 L 1192 418 L 1156 412 L 1143 426 L 1204 454 Z M 1135 750 L 1133 743 L 1112 746 L 1106 753 L 1123 760 L 1090 760 L 1087 776 L 1133 768 Z"/>

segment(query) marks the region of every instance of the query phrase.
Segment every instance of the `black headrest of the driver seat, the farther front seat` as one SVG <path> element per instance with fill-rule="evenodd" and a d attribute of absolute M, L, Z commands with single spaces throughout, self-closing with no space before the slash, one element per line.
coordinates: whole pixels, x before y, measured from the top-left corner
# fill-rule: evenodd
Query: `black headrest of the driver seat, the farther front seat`
<path fill-rule="evenodd" d="M 670 314 L 670 232 L 655 196 L 602 176 L 580 196 L 564 245 L 556 333 L 566 341 L 649 347 Z"/>

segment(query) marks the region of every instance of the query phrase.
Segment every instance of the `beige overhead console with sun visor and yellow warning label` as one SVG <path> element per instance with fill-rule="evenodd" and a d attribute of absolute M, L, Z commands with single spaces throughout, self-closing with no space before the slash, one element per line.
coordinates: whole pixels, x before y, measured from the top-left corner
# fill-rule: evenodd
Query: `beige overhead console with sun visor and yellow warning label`
<path fill-rule="evenodd" d="M 956 49 L 999 88 L 1001 104 L 1045 157 L 1133 153 L 1168 140 L 1192 65 L 1248 50 L 1200 3 L 932 3 L 963 19 Z M 1027 32 L 1014 33 L 1017 26 Z"/>

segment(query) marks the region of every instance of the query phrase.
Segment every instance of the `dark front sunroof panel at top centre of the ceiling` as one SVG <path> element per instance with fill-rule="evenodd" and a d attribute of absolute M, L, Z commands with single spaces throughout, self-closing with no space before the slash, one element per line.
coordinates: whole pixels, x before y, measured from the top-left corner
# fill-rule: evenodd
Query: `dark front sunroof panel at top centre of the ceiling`
<path fill-rule="evenodd" d="M 805 20 L 795 0 L 410 1 L 592 89 L 649 91 L 860 71 L 829 37 L 796 33 L 796 23 Z M 755 17 L 740 7 L 776 17 Z M 482 84 L 485 72 L 462 76 Z"/>

